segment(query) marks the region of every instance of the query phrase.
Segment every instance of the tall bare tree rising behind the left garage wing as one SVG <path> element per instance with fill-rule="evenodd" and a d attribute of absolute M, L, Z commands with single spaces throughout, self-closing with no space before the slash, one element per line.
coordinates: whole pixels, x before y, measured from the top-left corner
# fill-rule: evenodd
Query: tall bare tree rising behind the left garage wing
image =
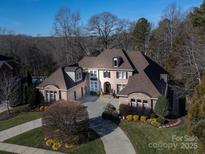
<path fill-rule="evenodd" d="M 79 21 L 80 13 L 72 12 L 66 7 L 61 8 L 55 16 L 54 31 L 55 35 L 62 39 L 62 57 L 65 58 L 66 64 L 75 63 L 81 56 L 81 51 L 86 52 L 80 35 Z"/>

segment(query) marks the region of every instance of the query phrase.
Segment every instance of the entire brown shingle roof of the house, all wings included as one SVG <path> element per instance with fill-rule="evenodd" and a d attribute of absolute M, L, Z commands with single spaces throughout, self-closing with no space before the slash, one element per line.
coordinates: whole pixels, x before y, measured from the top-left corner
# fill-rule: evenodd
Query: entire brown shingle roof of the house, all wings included
<path fill-rule="evenodd" d="M 114 57 L 121 57 L 123 63 L 118 68 L 113 68 L 112 60 Z M 107 69 L 130 69 L 134 75 L 128 79 L 128 84 L 119 93 L 119 95 L 129 95 L 133 92 L 143 92 L 152 97 L 159 97 L 164 94 L 166 83 L 160 79 L 160 74 L 167 72 L 145 56 L 141 52 L 128 51 L 120 49 L 109 49 L 102 52 L 97 57 L 84 57 L 79 66 L 82 68 L 107 68 Z M 66 71 L 75 71 L 78 65 L 61 67 L 51 74 L 39 87 L 46 85 L 56 85 L 60 89 L 69 89 L 79 82 L 75 83 Z M 85 75 L 83 75 L 83 80 Z M 82 81 L 81 81 L 82 82 Z"/>

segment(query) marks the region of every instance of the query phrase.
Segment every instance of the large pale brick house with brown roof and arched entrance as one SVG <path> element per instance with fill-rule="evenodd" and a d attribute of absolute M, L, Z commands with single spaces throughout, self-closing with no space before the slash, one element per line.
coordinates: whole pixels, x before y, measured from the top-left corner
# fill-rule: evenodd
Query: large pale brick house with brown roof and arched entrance
<path fill-rule="evenodd" d="M 168 95 L 169 84 L 167 72 L 143 53 L 107 49 L 59 68 L 37 88 L 46 101 L 75 100 L 95 92 L 115 94 L 120 103 L 152 109 L 160 96 Z"/>

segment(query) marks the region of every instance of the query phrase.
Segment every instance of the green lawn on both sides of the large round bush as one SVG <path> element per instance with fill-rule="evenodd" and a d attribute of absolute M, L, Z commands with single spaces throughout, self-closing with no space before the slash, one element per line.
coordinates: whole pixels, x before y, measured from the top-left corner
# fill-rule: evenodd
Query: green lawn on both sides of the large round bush
<path fill-rule="evenodd" d="M 5 141 L 6 143 L 25 145 L 36 148 L 44 147 L 42 128 L 36 128 Z M 79 148 L 68 151 L 69 154 L 105 154 L 103 143 L 100 139 L 82 144 Z"/>

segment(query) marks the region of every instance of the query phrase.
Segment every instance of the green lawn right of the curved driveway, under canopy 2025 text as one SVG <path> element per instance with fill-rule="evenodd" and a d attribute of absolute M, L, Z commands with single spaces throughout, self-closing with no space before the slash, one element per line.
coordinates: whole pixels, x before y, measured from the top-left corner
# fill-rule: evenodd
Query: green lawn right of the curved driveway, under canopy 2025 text
<path fill-rule="evenodd" d="M 176 135 L 177 137 L 188 135 L 186 123 L 183 123 L 179 128 L 159 129 L 147 124 L 122 122 L 120 127 L 127 134 L 136 152 L 139 154 L 196 154 L 196 150 L 193 150 L 193 142 L 190 143 L 184 141 L 184 139 L 182 139 L 182 142 L 175 142 L 172 140 L 172 137 L 174 137 L 173 135 Z M 160 145 L 163 145 L 164 143 L 166 143 L 166 145 L 173 145 L 173 143 L 176 143 L 177 148 L 175 150 L 173 148 L 170 150 L 167 148 L 156 150 L 156 148 L 153 148 L 153 145 L 157 145 L 156 143 L 160 143 Z M 182 149 L 184 148 L 184 143 L 186 144 L 187 149 Z"/>

